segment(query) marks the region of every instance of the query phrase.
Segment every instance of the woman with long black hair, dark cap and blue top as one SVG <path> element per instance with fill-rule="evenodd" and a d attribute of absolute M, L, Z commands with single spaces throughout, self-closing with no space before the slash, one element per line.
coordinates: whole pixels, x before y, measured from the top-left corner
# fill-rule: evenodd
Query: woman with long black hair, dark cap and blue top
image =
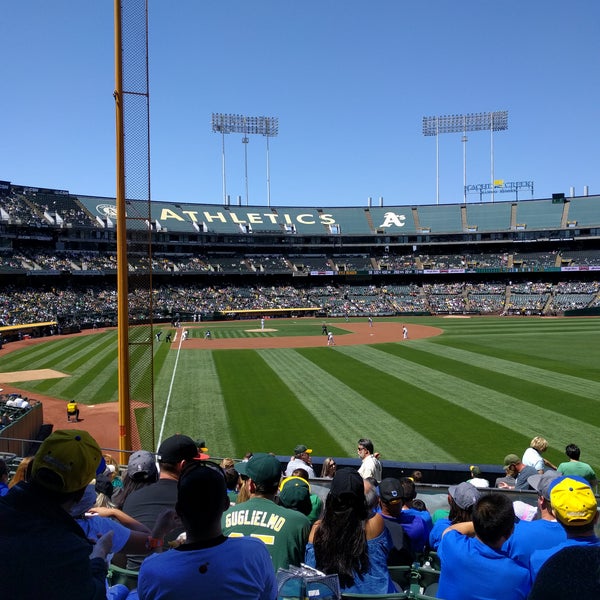
<path fill-rule="evenodd" d="M 339 470 L 323 518 L 310 532 L 305 562 L 326 574 L 337 573 L 346 593 L 385 594 L 396 591 L 387 569 L 391 548 L 381 515 L 369 518 L 360 475 Z"/>

